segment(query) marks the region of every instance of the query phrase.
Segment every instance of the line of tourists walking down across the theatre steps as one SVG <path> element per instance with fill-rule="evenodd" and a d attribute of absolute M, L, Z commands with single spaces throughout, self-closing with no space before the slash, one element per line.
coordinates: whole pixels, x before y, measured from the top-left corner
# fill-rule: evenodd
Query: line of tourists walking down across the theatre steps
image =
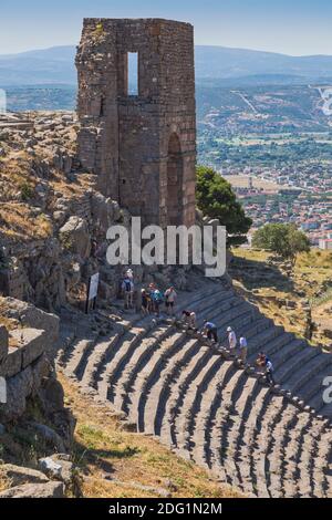
<path fill-rule="evenodd" d="M 122 292 L 124 294 L 125 309 L 134 306 L 134 274 L 132 269 L 125 272 L 125 277 L 122 281 Z M 141 311 L 143 315 L 155 314 L 160 315 L 162 305 L 165 304 L 165 311 L 167 315 L 175 316 L 176 312 L 176 300 L 177 292 L 174 287 L 169 287 L 165 292 L 160 291 L 156 283 L 149 283 L 147 288 L 141 290 Z M 190 309 L 181 311 L 181 322 L 184 325 L 194 332 L 198 332 L 196 313 Z M 241 367 L 246 367 L 247 355 L 248 355 L 248 341 L 245 335 L 241 335 L 239 341 L 235 330 L 231 326 L 227 327 L 228 346 L 227 351 L 229 355 L 237 360 L 237 363 Z M 210 342 L 218 343 L 218 327 L 217 325 L 205 320 L 200 334 L 207 337 Z M 273 377 L 273 365 L 267 354 L 260 352 L 256 360 L 256 366 L 266 376 L 267 382 L 270 385 L 274 385 Z"/>

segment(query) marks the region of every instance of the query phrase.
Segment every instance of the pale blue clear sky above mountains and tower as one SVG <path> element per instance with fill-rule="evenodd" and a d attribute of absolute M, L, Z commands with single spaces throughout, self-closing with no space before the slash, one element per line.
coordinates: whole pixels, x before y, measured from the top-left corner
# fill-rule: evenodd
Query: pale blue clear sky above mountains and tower
<path fill-rule="evenodd" d="M 76 44 L 84 17 L 184 20 L 197 44 L 332 54 L 331 0 L 1 0 L 0 54 Z"/>

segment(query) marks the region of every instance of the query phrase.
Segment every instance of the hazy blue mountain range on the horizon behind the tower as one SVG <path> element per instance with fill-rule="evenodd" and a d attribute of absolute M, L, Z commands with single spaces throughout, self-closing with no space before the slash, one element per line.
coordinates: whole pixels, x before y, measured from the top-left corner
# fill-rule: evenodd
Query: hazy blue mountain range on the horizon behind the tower
<path fill-rule="evenodd" d="M 74 85 L 74 45 L 0 54 L 0 85 Z M 332 81 L 332 56 L 284 54 L 197 45 L 196 77 L 203 84 L 301 84 Z"/>

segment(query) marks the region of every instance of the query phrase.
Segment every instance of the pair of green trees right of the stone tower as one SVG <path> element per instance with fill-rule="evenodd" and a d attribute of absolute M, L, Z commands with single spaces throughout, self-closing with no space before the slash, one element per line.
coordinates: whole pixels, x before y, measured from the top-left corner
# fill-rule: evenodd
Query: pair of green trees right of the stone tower
<path fill-rule="evenodd" d="M 252 220 L 246 216 L 231 185 L 212 168 L 198 166 L 196 199 L 204 215 L 226 226 L 229 247 L 247 241 Z M 298 253 L 310 250 L 308 237 L 292 223 L 268 223 L 255 233 L 252 246 L 292 261 Z"/>

